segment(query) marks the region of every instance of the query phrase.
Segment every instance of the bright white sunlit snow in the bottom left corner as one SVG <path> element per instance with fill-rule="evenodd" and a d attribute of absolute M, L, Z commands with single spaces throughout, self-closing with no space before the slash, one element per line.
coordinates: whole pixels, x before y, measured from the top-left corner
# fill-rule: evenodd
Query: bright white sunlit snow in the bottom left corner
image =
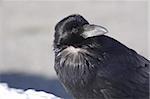
<path fill-rule="evenodd" d="M 43 91 L 33 89 L 21 90 L 9 88 L 7 84 L 0 83 L 0 99 L 62 99 Z"/>

